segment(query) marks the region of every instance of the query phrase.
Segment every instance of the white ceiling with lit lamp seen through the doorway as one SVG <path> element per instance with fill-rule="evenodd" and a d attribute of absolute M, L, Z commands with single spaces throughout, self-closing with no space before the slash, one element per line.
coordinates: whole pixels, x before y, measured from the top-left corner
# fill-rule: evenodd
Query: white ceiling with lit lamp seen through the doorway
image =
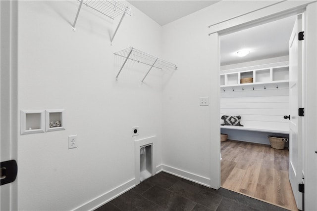
<path fill-rule="evenodd" d="M 288 41 L 295 17 L 288 17 L 220 37 L 221 65 L 288 55 Z M 245 57 L 237 51 L 249 49 Z"/>

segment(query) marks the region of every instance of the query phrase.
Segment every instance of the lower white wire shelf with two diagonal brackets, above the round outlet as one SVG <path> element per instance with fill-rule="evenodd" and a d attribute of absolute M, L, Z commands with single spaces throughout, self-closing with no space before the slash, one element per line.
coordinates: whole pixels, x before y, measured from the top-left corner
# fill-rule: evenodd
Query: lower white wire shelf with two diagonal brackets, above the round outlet
<path fill-rule="evenodd" d="M 153 67 L 158 68 L 160 70 L 170 70 L 170 69 L 177 70 L 177 65 L 170 63 L 170 62 L 167 62 L 163 59 L 159 59 L 158 57 L 155 57 L 153 55 L 145 53 L 145 52 L 138 50 L 134 47 L 128 47 L 126 49 L 120 50 L 118 52 L 115 52 L 114 55 L 121 56 L 121 57 L 125 58 L 125 61 L 123 62 L 123 65 L 121 66 L 121 68 L 116 76 L 116 79 L 118 79 L 118 76 L 119 76 L 123 66 L 125 65 L 125 63 L 128 59 L 151 66 L 150 70 L 143 78 L 142 83 Z"/>

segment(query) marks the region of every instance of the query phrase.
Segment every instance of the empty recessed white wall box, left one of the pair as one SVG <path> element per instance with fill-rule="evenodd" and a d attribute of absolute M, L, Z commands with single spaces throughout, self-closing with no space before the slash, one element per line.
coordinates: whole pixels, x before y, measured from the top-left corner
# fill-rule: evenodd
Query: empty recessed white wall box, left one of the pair
<path fill-rule="evenodd" d="M 44 132 L 44 110 L 21 110 L 21 135 Z"/>

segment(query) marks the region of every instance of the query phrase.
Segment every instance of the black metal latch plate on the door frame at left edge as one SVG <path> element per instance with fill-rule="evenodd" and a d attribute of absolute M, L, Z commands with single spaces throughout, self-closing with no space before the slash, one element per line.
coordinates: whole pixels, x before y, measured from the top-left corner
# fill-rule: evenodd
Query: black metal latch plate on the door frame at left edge
<path fill-rule="evenodd" d="M 18 166 L 15 160 L 1 162 L 1 185 L 13 182 L 17 172 Z"/>

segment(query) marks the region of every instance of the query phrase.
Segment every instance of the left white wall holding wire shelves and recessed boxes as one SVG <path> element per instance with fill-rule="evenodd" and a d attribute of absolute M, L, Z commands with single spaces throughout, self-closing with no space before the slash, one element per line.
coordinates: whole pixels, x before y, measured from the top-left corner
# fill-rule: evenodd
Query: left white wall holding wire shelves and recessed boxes
<path fill-rule="evenodd" d="M 162 57 L 160 26 L 131 6 L 111 46 L 120 17 L 112 22 L 83 6 L 73 32 L 78 5 L 18 2 L 18 110 L 65 109 L 66 128 L 19 135 L 19 210 L 105 203 L 112 189 L 134 184 L 136 139 L 157 135 L 154 165 L 161 164 L 161 73 L 153 70 L 142 85 L 149 67 L 128 62 L 115 81 L 123 58 L 113 55 L 133 46 Z M 140 135 L 131 137 L 134 126 Z M 68 150 L 73 134 L 78 147 Z"/>

